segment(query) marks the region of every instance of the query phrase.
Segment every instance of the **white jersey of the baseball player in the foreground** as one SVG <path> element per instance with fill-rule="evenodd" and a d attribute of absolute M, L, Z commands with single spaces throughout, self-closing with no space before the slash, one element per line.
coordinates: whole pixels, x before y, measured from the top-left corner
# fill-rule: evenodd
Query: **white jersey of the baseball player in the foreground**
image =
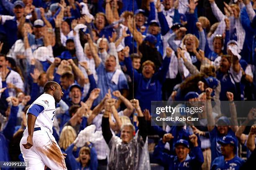
<path fill-rule="evenodd" d="M 49 94 L 42 94 L 39 96 L 32 104 L 30 107 L 33 105 L 41 105 L 44 107 L 44 110 L 39 113 L 39 115 L 36 118 L 36 123 L 35 123 L 35 128 L 38 127 L 46 127 L 49 128 L 51 134 L 52 134 L 52 126 L 55 118 L 55 113 L 56 113 L 56 108 L 55 108 L 55 100 L 52 95 Z M 28 108 L 28 110 L 30 109 Z M 27 112 L 28 114 L 28 112 Z M 28 128 L 28 125 L 26 129 Z"/>

